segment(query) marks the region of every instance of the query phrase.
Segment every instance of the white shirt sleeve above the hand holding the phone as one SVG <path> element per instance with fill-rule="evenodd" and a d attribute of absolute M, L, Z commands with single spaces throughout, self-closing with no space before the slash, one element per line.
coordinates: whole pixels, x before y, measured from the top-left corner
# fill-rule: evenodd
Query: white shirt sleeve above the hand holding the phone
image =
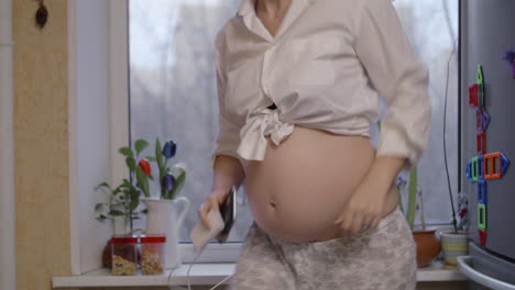
<path fill-rule="evenodd" d="M 218 87 L 218 107 L 219 107 L 219 132 L 215 141 L 215 148 L 211 152 L 211 167 L 215 166 L 215 159 L 218 155 L 231 156 L 240 159 L 237 148 L 240 144 L 240 126 L 229 121 L 226 114 L 226 86 L 227 75 L 224 71 L 224 52 L 221 45 L 221 34 L 216 40 L 216 75 Z M 240 159 L 241 163 L 241 159 Z"/>

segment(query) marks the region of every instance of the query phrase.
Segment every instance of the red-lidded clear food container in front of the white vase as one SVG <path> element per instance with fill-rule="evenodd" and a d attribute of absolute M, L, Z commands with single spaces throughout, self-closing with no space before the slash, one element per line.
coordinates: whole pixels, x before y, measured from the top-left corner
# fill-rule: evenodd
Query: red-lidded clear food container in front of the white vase
<path fill-rule="evenodd" d="M 166 236 L 164 235 L 142 235 L 140 237 L 141 274 L 163 274 L 165 259 L 165 243 Z"/>

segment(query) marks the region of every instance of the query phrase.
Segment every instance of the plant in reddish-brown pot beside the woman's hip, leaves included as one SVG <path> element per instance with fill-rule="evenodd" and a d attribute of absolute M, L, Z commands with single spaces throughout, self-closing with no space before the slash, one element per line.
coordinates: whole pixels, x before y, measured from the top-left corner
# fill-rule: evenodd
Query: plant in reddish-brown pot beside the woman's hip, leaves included
<path fill-rule="evenodd" d="M 417 167 L 412 167 L 409 171 L 409 182 L 403 177 L 397 178 L 397 188 L 399 193 L 405 193 L 408 197 L 406 210 L 403 208 L 402 199 L 399 199 L 401 209 L 405 213 L 406 220 L 412 228 L 413 238 L 417 244 L 417 266 L 419 268 L 427 267 L 431 264 L 435 257 L 440 253 L 440 242 L 435 232 L 437 228 L 427 228 L 424 217 L 424 197 L 423 190 L 418 186 Z M 420 225 L 415 226 L 415 212 L 420 212 Z"/>

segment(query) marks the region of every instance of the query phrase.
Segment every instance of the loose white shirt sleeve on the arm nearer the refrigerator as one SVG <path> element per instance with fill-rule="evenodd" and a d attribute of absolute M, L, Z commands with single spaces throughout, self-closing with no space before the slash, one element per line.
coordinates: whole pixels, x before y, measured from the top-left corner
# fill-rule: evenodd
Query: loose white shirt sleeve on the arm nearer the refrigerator
<path fill-rule="evenodd" d="M 406 157 L 412 166 L 427 146 L 428 70 L 415 56 L 392 1 L 364 1 L 354 49 L 387 104 L 376 156 Z"/>

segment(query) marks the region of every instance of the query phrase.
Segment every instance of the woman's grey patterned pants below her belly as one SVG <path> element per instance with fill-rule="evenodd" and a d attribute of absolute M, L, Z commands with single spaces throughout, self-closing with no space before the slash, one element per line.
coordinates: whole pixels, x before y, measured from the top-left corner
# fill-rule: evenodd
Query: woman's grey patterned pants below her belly
<path fill-rule="evenodd" d="M 252 224 L 231 290 L 413 290 L 416 246 L 397 209 L 377 228 L 324 242 L 288 243 Z"/>

